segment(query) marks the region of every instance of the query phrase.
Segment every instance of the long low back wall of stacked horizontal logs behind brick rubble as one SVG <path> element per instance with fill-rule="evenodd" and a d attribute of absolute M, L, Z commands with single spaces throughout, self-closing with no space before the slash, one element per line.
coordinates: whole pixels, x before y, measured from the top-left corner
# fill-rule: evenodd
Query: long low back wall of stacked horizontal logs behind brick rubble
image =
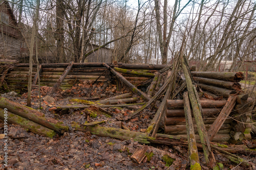
<path fill-rule="evenodd" d="M 67 66 L 68 63 L 41 64 L 40 84 L 42 86 L 54 86 Z M 133 85 L 138 85 L 154 77 L 155 75 L 152 73 L 165 68 L 167 65 L 118 63 L 116 66 L 115 70 L 120 72 L 126 80 Z M 105 70 L 106 68 L 102 63 L 73 63 L 72 69 L 60 84 L 60 88 L 70 88 L 76 81 L 95 81 Z M 16 67 L 8 72 L 7 82 L 11 90 L 24 88 L 28 84 L 28 71 L 29 64 L 16 64 Z M 34 80 L 34 75 L 37 73 L 36 71 L 36 64 L 33 64 L 32 81 Z M 112 80 L 111 72 L 106 71 L 97 81 L 110 82 Z"/>

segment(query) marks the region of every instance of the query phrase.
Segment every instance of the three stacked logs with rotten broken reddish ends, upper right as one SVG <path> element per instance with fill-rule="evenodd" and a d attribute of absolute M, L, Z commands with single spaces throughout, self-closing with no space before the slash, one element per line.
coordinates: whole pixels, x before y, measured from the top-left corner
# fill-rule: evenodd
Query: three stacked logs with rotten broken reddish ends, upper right
<path fill-rule="evenodd" d="M 242 72 L 191 72 L 197 85 L 207 92 L 228 98 L 230 94 L 241 90 Z"/>

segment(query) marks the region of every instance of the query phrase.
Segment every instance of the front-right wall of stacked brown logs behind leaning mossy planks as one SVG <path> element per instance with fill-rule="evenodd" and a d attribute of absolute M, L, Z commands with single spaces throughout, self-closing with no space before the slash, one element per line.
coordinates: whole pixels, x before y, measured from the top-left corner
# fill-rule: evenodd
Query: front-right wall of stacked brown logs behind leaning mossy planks
<path fill-rule="evenodd" d="M 208 130 L 212 123 L 216 120 L 216 116 L 221 111 L 221 108 L 226 104 L 226 101 L 215 100 L 200 100 L 203 110 L 203 121 L 205 128 Z M 167 100 L 166 116 L 165 116 L 165 133 L 178 135 L 180 137 L 186 137 L 186 119 L 184 112 L 183 100 Z M 191 109 L 192 119 L 194 121 L 195 137 L 199 139 L 197 135 L 197 126 L 194 120 L 193 110 Z M 230 139 L 229 132 L 231 130 L 231 119 L 227 119 L 225 124 L 222 125 L 219 132 L 213 138 L 212 141 L 228 141 Z"/>

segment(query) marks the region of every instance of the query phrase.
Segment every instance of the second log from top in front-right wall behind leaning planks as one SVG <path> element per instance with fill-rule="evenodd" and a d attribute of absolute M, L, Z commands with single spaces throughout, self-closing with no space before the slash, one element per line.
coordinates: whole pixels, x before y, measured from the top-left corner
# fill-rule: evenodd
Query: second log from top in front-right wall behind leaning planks
<path fill-rule="evenodd" d="M 204 108 L 202 109 L 205 117 L 213 117 L 221 111 L 221 108 Z M 193 110 L 191 114 L 194 117 Z M 166 109 L 166 117 L 184 117 L 184 109 Z"/>

